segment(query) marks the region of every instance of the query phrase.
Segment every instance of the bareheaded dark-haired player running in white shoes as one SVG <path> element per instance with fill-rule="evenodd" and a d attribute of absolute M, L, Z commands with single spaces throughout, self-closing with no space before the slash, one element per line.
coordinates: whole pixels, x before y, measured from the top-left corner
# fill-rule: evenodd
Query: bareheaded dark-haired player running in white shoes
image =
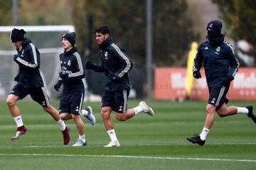
<path fill-rule="evenodd" d="M 96 28 L 95 35 L 97 45 L 100 48 L 102 63 L 94 64 L 87 60 L 85 67 L 95 72 L 104 72 L 107 77 L 105 92 L 102 96 L 101 115 L 111 141 L 105 147 L 119 147 L 120 144 L 114 132 L 114 124 L 110 113 L 114 111 L 115 118 L 124 121 L 139 112 L 153 116 L 154 111 L 144 101 L 140 102 L 136 108 L 127 109 L 127 100 L 131 88 L 128 72 L 132 68 L 132 61 L 124 52 L 123 47 L 112 42 L 110 29 L 107 26 Z"/>

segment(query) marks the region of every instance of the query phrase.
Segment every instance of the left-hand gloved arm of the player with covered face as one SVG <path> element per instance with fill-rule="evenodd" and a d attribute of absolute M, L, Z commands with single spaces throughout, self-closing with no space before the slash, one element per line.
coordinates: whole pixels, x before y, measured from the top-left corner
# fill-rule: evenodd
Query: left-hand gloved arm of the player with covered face
<path fill-rule="evenodd" d="M 201 78 L 201 74 L 200 74 L 200 69 L 202 67 L 202 63 L 203 63 L 203 55 L 201 52 L 201 46 L 198 47 L 198 51 L 196 52 L 196 57 L 193 61 L 193 77 L 195 77 L 196 79 Z"/>

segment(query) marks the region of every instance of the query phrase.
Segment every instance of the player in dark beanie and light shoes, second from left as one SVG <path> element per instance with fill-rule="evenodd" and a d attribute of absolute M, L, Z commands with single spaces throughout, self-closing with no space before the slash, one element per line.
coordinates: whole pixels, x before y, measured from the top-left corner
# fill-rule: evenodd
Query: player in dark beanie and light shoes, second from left
<path fill-rule="evenodd" d="M 89 106 L 82 110 L 82 103 L 85 96 L 85 86 L 82 79 L 85 73 L 82 67 L 81 57 L 75 47 L 75 33 L 65 33 L 61 43 L 64 52 L 60 54 L 60 79 L 54 86 L 59 91 L 63 84 L 63 94 L 60 98 L 60 118 L 62 120 L 73 119 L 79 133 L 79 138 L 73 147 L 86 146 L 85 124 L 80 115 L 84 115 L 91 124 L 95 124 L 95 116 L 92 114 L 92 108 Z"/>

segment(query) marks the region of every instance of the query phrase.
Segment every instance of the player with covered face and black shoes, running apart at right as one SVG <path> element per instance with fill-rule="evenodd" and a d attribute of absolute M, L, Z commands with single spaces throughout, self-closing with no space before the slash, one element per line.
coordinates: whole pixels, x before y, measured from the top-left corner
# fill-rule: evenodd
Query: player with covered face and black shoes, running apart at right
<path fill-rule="evenodd" d="M 209 90 L 206 121 L 203 130 L 200 135 L 187 137 L 189 142 L 201 146 L 205 144 L 206 136 L 213 126 L 215 111 L 221 118 L 238 113 L 246 114 L 256 123 L 252 106 L 248 105 L 244 108 L 226 106 L 228 103 L 226 94 L 228 94 L 230 81 L 233 81 L 235 74 L 238 72 L 239 62 L 235 57 L 233 47 L 228 42 L 224 42 L 225 35 L 221 33 L 222 27 L 223 24 L 219 20 L 210 21 L 207 24 L 208 40 L 198 47 L 193 64 L 193 77 L 200 79 L 200 69 L 203 63 Z"/>

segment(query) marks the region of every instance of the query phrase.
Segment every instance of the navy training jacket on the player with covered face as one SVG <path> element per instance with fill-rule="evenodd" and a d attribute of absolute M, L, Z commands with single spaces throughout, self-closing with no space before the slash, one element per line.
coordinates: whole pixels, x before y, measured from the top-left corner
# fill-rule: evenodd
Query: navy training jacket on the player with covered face
<path fill-rule="evenodd" d="M 233 47 L 223 40 L 215 45 L 210 45 L 208 40 L 201 43 L 194 59 L 193 72 L 199 71 L 203 63 L 208 87 L 228 85 L 228 77 L 234 78 L 238 72 L 239 62 Z"/>

